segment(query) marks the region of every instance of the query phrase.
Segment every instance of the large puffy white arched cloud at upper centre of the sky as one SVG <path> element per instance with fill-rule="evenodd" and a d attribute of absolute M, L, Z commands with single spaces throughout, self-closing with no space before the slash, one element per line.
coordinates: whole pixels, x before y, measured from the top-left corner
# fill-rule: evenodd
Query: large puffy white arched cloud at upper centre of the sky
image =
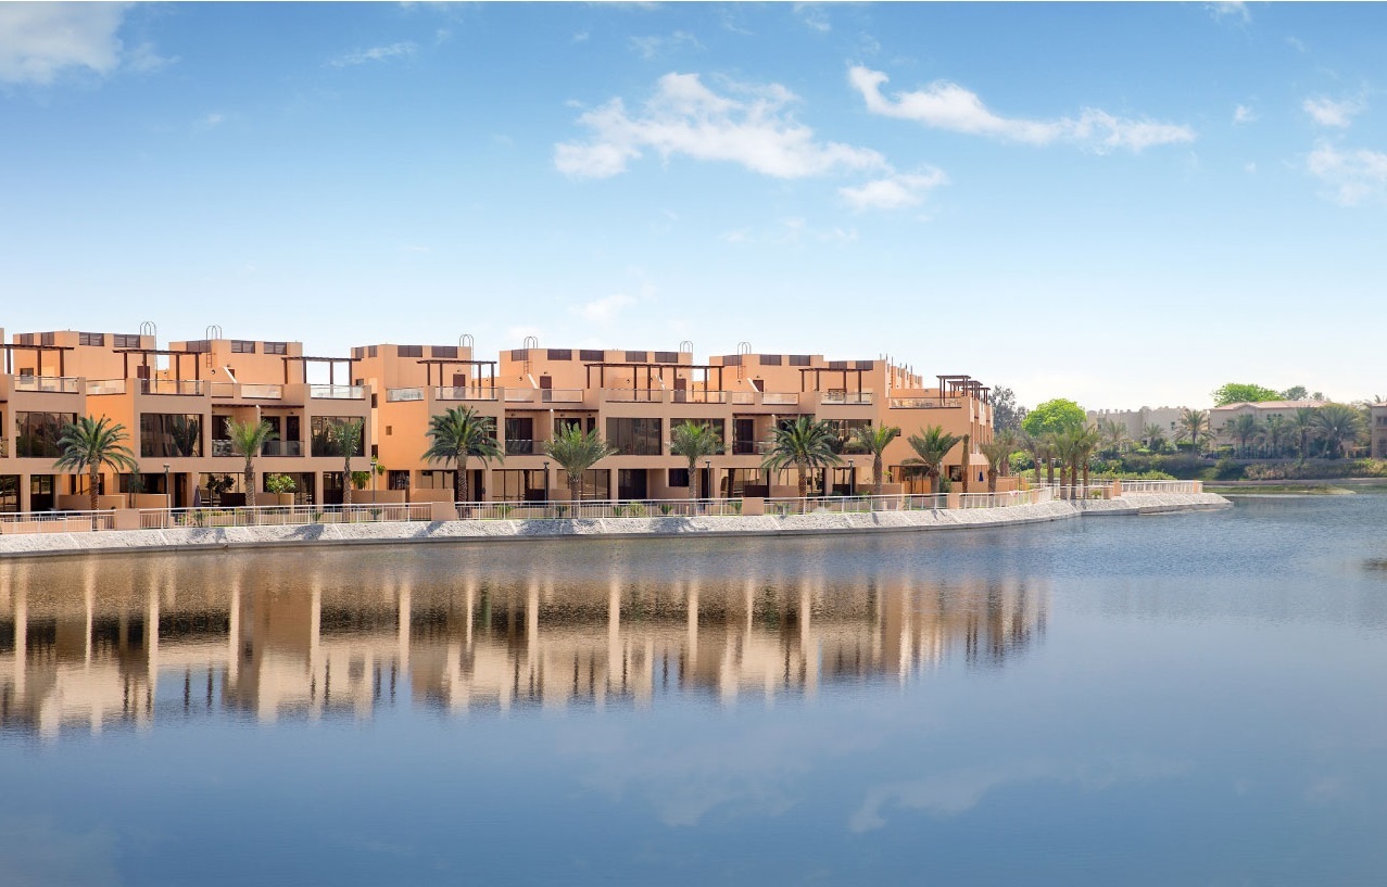
<path fill-rule="evenodd" d="M 777 179 L 886 168 L 870 148 L 816 140 L 791 114 L 798 98 L 784 86 L 727 82 L 725 87 L 718 94 L 696 73 L 667 73 L 634 112 L 613 98 L 578 118 L 591 136 L 555 146 L 555 166 L 573 177 L 605 179 L 652 150 L 664 161 L 678 155 L 723 161 Z"/>

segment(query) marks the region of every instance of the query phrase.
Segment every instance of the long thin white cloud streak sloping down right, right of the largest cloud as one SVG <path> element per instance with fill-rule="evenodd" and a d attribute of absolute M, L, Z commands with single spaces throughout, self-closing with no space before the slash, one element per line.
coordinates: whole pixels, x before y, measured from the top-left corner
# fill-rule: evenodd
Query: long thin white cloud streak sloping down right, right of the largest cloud
<path fill-rule="evenodd" d="M 989 136 L 1024 144 L 1075 143 L 1096 151 L 1194 141 L 1189 126 L 1148 119 L 1118 118 L 1107 111 L 1085 108 L 1078 118 L 1028 121 L 993 114 L 976 96 L 957 83 L 936 80 L 913 93 L 888 98 L 881 86 L 889 78 L 864 67 L 847 72 L 847 80 L 861 93 L 867 109 L 882 116 L 915 121 L 935 129 Z"/>

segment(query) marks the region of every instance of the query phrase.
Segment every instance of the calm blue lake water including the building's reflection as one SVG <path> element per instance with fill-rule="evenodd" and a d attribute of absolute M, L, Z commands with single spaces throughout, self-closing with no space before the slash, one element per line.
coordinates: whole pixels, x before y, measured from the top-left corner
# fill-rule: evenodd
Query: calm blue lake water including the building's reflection
<path fill-rule="evenodd" d="M 0 884 L 1381 884 L 1384 527 L 0 563 Z"/>

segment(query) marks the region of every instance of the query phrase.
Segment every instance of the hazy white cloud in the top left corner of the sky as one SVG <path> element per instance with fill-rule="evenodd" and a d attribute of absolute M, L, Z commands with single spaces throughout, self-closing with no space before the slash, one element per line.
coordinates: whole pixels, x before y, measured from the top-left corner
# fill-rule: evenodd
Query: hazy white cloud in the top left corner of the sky
<path fill-rule="evenodd" d="M 68 71 L 105 76 L 128 65 L 157 71 L 161 58 L 144 43 L 126 51 L 118 32 L 126 3 L 0 3 L 0 83 L 46 86 Z"/>

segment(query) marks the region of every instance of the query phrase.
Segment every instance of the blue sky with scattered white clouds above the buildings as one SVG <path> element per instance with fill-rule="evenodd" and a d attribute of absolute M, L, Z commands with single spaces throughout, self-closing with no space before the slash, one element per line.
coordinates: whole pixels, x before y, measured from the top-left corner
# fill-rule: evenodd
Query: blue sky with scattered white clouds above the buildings
<path fill-rule="evenodd" d="M 6 4 L 0 327 L 1387 395 L 1383 4 Z"/>

